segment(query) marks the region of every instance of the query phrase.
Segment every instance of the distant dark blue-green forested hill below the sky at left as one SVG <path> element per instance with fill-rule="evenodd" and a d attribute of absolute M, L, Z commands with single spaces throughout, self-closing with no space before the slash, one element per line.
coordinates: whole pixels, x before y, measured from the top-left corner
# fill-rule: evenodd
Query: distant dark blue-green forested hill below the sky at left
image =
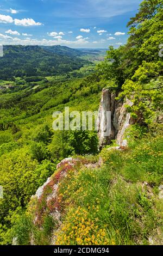
<path fill-rule="evenodd" d="M 0 58 L 0 80 L 54 76 L 77 70 L 90 63 L 79 58 L 82 54 L 82 51 L 61 46 L 53 47 L 51 51 L 40 46 L 4 46 L 4 57 Z"/>

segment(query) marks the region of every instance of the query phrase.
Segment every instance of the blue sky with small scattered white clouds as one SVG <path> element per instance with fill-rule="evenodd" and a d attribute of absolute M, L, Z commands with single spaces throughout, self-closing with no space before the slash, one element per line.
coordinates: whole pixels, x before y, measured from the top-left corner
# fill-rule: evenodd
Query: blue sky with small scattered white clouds
<path fill-rule="evenodd" d="M 1 0 L 0 44 L 118 47 L 141 0 Z"/>

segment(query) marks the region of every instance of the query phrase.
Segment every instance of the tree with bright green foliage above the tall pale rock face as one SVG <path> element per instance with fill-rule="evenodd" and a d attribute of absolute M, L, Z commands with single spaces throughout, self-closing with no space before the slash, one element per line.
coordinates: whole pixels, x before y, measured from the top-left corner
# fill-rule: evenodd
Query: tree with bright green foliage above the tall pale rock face
<path fill-rule="evenodd" d="M 162 109 L 163 62 L 159 45 L 163 42 L 163 9 L 161 0 L 145 0 L 139 12 L 131 18 L 129 39 L 126 45 L 109 48 L 106 59 L 98 71 L 107 80 L 115 82 L 120 97 L 128 97 L 145 123 L 156 118 Z"/>

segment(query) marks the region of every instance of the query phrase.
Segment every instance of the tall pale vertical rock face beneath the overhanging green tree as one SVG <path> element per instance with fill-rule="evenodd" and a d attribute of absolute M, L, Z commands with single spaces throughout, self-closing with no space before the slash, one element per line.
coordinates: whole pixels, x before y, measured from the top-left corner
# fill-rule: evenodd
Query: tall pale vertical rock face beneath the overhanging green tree
<path fill-rule="evenodd" d="M 124 139 L 124 133 L 130 124 L 135 121 L 131 118 L 130 113 L 127 112 L 125 105 L 132 106 L 133 103 L 129 100 L 120 102 L 115 100 L 116 95 L 110 93 L 108 89 L 103 89 L 102 99 L 98 110 L 97 131 L 99 137 L 99 148 L 106 144 L 110 144 L 111 140 L 116 139 L 120 147 L 127 146 L 127 140 Z M 110 130 L 106 134 L 107 116 L 106 112 L 110 111 Z"/>

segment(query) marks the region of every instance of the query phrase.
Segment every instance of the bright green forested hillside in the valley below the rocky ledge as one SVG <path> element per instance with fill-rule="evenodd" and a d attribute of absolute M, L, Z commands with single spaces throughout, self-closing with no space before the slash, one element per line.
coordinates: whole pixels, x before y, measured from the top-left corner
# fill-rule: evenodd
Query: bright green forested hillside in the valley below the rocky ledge
<path fill-rule="evenodd" d="M 2 93 L 0 184 L 4 197 L 0 199 L 1 243 L 11 243 L 8 233 L 12 217 L 24 211 L 30 197 L 54 173 L 61 159 L 97 152 L 95 131 L 54 132 L 52 114 L 64 112 L 65 106 L 79 112 L 98 109 L 102 88 L 103 83 L 93 75 L 66 82 L 42 81 L 35 89 L 27 87 L 15 93 Z"/>

